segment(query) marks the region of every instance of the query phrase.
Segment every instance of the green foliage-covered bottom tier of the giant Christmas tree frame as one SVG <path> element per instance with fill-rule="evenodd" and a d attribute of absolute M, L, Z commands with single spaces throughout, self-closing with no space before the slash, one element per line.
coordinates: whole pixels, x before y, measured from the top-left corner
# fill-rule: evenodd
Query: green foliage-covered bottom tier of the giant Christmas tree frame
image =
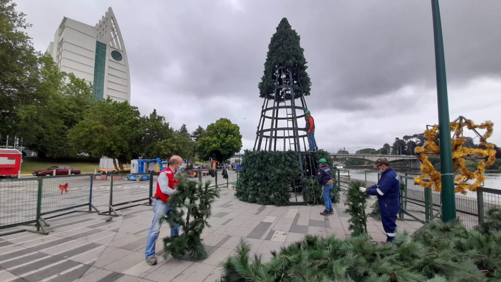
<path fill-rule="evenodd" d="M 317 161 L 320 158 L 325 158 L 328 164 L 332 166 L 332 160 L 329 158 L 328 152 L 320 150 L 313 152 L 312 155 L 313 161 L 303 160 L 304 171 L 310 177 L 316 176 L 318 170 Z M 249 203 L 288 205 L 291 178 L 300 175 L 297 152 L 245 151 L 242 158 L 242 168 L 238 175 L 235 196 L 241 201 Z M 316 183 L 316 178 L 313 180 Z M 303 182 L 303 185 L 303 190 L 306 190 L 304 191 L 305 199 L 314 202 L 313 198 L 308 194 L 308 189 L 311 189 L 311 186 L 308 188 L 305 182 Z M 315 196 L 321 199 L 322 193 L 317 193 L 317 190 L 315 190 Z M 323 200 L 316 201 L 318 204 L 323 204 L 323 202 Z"/>

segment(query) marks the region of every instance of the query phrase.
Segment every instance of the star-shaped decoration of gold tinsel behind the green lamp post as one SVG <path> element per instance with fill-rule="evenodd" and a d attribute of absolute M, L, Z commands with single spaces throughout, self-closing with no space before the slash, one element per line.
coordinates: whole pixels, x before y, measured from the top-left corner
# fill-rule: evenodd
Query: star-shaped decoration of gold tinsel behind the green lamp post
<path fill-rule="evenodd" d="M 488 143 L 486 139 L 492 135 L 494 123 L 487 120 L 480 124 L 475 124 L 471 119 L 466 119 L 459 116 L 450 123 L 450 131 L 454 132 L 451 138 L 452 147 L 452 168 L 454 170 L 454 182 L 456 187 L 455 193 L 466 194 L 466 191 L 476 191 L 485 180 L 485 167 L 490 166 L 495 161 L 494 145 Z M 433 187 L 435 191 L 440 192 L 441 174 L 433 168 L 433 165 L 428 160 L 428 156 L 440 155 L 440 147 L 435 143 L 438 138 L 438 125 L 426 126 L 424 136 L 426 142 L 422 147 L 416 147 L 414 152 L 423 163 L 421 165 L 421 175 L 414 179 L 414 182 L 422 187 Z M 479 137 L 479 148 L 463 147 L 466 137 L 463 136 L 463 130 L 466 127 L 472 130 Z M 477 129 L 485 129 L 485 133 L 481 135 Z M 465 157 L 477 156 L 483 160 L 478 162 L 476 171 L 471 172 L 465 166 Z M 468 180 L 475 180 L 473 183 L 468 183 Z"/>

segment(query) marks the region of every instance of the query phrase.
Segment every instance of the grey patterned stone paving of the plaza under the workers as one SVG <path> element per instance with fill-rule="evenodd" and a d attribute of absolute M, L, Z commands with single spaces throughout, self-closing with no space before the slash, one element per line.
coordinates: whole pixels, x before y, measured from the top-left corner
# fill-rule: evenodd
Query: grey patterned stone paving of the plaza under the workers
<path fill-rule="evenodd" d="M 109 187 L 108 187 L 109 188 Z M 105 210 L 107 187 L 95 186 L 93 203 Z M 342 197 L 343 199 L 343 197 Z M 239 201 L 234 191 L 222 188 L 212 206 L 211 228 L 203 232 L 209 256 L 201 261 L 163 257 L 162 240 L 157 241 L 158 264 L 144 260 L 146 235 L 153 217 L 152 207 L 137 205 L 118 211 L 118 217 L 97 213 L 72 213 L 48 219 L 49 235 L 21 232 L 0 236 L 0 281 L 215 281 L 221 261 L 234 251 L 240 239 L 252 244 L 252 252 L 271 259 L 280 250 L 306 234 L 345 238 L 349 215 L 343 203 L 334 215 L 322 216 L 323 206 L 262 206 Z M 368 219 L 375 241 L 386 235 L 381 222 Z M 397 221 L 398 230 L 413 232 L 420 223 Z M 33 228 L 33 227 L 30 227 Z M 168 236 L 167 224 L 160 238 Z"/>

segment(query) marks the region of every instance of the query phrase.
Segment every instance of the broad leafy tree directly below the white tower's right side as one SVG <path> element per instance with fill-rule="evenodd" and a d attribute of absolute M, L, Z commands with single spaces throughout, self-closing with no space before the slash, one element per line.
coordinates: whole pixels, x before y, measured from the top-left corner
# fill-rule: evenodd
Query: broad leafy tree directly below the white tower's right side
<path fill-rule="evenodd" d="M 127 101 L 108 98 L 96 101 L 69 138 L 77 151 L 107 156 L 113 159 L 115 169 L 123 170 L 123 164 L 137 156 L 142 133 L 139 110 Z"/>

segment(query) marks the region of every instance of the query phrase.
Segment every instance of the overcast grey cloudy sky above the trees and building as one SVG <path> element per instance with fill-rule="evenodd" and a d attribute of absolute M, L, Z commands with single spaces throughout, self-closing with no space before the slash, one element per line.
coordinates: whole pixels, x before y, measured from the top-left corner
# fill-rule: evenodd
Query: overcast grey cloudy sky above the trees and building
<path fill-rule="evenodd" d="M 283 17 L 301 36 L 318 146 L 379 149 L 438 122 L 431 5 L 392 1 L 18 0 L 45 51 L 63 17 L 94 26 L 112 7 L 131 72 L 131 104 L 174 128 L 220 117 L 254 145 L 258 83 Z M 501 145 L 501 1 L 440 2 L 451 120 L 494 122 Z"/>

